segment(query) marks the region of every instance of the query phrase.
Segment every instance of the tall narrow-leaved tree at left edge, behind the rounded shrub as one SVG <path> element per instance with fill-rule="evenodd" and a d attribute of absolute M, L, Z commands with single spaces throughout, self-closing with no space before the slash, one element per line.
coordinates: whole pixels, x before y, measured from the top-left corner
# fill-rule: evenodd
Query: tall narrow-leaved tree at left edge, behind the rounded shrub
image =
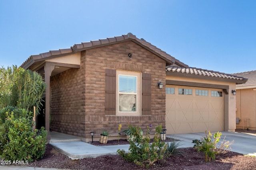
<path fill-rule="evenodd" d="M 0 69 L 0 108 L 16 106 L 39 114 L 46 84 L 40 74 L 12 66 Z"/>

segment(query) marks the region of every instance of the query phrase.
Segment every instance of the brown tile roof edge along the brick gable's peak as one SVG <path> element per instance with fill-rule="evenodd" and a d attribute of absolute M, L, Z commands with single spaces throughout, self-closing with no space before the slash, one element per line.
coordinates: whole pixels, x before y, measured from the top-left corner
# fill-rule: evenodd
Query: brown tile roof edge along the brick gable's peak
<path fill-rule="evenodd" d="M 141 45 L 148 50 L 152 51 L 162 59 L 164 59 L 167 63 L 176 63 L 181 66 L 188 66 L 179 60 L 175 59 L 171 55 L 167 54 L 166 52 L 162 51 L 161 49 L 157 48 L 156 46 L 152 45 L 151 43 L 145 41 L 144 39 L 138 39 L 135 35 L 132 33 L 128 33 L 126 35 L 116 36 L 116 37 L 110 37 L 106 39 L 99 39 L 95 41 L 89 41 L 84 42 L 80 44 L 75 44 L 73 47 L 70 47 L 69 49 L 59 49 L 54 51 L 49 51 L 46 53 L 41 53 L 39 55 L 31 55 L 21 66 L 23 68 L 28 68 L 30 65 L 37 61 L 43 61 L 47 58 L 54 58 L 54 57 L 60 57 L 63 55 L 68 55 L 72 53 L 76 53 L 79 51 L 84 51 L 86 49 L 101 47 L 103 45 L 110 45 L 114 43 L 124 42 L 124 41 L 133 41 L 137 43 L 138 45 Z"/>

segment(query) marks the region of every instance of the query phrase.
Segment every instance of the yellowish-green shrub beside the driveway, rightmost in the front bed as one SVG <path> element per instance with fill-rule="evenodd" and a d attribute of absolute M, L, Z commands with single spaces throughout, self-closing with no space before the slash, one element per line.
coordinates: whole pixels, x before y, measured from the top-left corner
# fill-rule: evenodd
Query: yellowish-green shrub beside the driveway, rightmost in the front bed
<path fill-rule="evenodd" d="M 229 141 L 225 141 L 225 137 L 223 141 L 221 142 L 220 147 L 218 147 L 217 143 L 220 141 L 220 137 L 222 135 L 221 132 L 214 133 L 213 137 L 210 131 L 208 131 L 208 135 L 206 134 L 206 137 L 202 137 L 201 141 L 198 139 L 195 139 L 192 141 L 194 143 L 194 149 L 196 149 L 198 152 L 204 152 L 204 161 L 209 162 L 211 160 L 215 160 L 216 154 L 219 153 L 226 153 L 231 150 L 230 145 L 231 143 Z"/>

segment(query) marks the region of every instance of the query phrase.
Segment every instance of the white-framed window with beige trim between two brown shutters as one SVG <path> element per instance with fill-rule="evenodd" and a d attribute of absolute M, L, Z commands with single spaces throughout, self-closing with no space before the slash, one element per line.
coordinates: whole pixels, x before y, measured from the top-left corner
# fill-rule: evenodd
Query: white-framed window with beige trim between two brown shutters
<path fill-rule="evenodd" d="M 141 113 L 141 73 L 117 70 L 116 115 Z"/>

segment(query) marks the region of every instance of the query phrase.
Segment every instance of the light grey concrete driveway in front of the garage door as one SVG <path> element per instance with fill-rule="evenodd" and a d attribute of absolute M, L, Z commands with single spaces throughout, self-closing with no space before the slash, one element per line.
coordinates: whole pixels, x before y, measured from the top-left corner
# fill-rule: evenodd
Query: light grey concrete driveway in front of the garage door
<path fill-rule="evenodd" d="M 214 133 L 212 133 L 214 134 Z M 167 135 L 168 137 L 175 138 L 181 140 L 181 147 L 193 147 L 194 144 L 192 140 L 200 139 L 201 137 L 205 137 L 205 133 L 186 133 L 186 134 L 174 134 Z M 226 141 L 233 141 L 234 143 L 231 145 L 233 152 L 238 152 L 241 154 L 247 154 L 251 156 L 256 156 L 256 135 L 248 134 L 248 133 L 237 133 L 237 132 L 222 132 L 222 136 L 220 138 L 220 142 L 226 136 Z"/>

